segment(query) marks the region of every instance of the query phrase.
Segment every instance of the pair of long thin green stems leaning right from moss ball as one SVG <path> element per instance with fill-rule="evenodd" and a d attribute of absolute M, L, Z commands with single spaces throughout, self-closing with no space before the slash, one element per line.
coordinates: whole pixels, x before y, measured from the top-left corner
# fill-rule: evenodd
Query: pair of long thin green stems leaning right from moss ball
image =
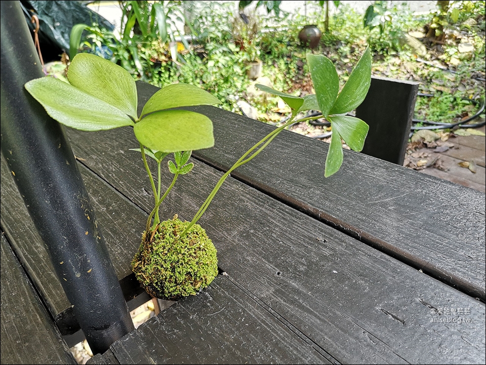
<path fill-rule="evenodd" d="M 199 208 L 199 210 L 197 211 L 197 213 L 194 215 L 194 218 L 192 219 L 192 221 L 189 223 L 189 225 L 186 227 L 186 229 L 184 229 L 184 231 L 182 232 L 181 237 L 184 236 L 191 229 L 191 227 L 194 224 L 196 224 L 196 222 L 199 220 L 199 218 L 201 218 L 201 216 L 203 216 L 204 212 L 206 212 L 206 209 L 208 209 L 209 205 L 211 204 L 211 201 L 213 200 L 214 196 L 218 192 L 219 188 L 221 187 L 221 185 L 223 185 L 223 183 L 226 180 L 226 178 L 231 174 L 231 172 L 234 169 L 236 169 L 236 168 L 238 168 L 238 167 L 240 167 L 242 165 L 245 165 L 247 162 L 249 162 L 253 158 L 255 158 L 286 127 L 288 127 L 288 126 L 290 126 L 290 125 L 292 125 L 294 123 L 298 123 L 300 121 L 309 120 L 309 118 L 302 118 L 302 119 L 299 119 L 297 121 L 294 121 L 294 117 L 295 117 L 295 115 L 293 115 L 289 119 L 289 121 L 287 121 L 286 124 L 284 124 L 284 125 L 276 128 L 276 129 L 274 129 L 269 134 L 267 134 L 265 137 L 263 137 L 259 142 L 257 142 L 255 145 L 253 145 L 253 147 L 251 147 L 240 158 L 238 158 L 238 160 L 234 163 L 234 165 L 227 172 L 225 172 L 223 174 L 223 176 L 221 176 L 221 178 L 218 180 L 218 182 L 217 182 L 216 186 L 214 187 L 214 189 L 211 191 L 211 193 L 206 198 L 206 200 L 203 203 L 203 205 Z M 249 154 L 251 154 L 251 156 L 247 158 L 247 156 Z"/>

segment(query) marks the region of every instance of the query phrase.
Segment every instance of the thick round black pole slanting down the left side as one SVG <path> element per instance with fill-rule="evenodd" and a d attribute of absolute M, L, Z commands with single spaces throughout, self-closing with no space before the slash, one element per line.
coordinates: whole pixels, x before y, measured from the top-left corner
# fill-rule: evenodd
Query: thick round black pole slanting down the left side
<path fill-rule="evenodd" d="M 1 148 L 94 353 L 134 329 L 61 126 L 25 90 L 41 64 L 18 1 L 1 3 Z"/>

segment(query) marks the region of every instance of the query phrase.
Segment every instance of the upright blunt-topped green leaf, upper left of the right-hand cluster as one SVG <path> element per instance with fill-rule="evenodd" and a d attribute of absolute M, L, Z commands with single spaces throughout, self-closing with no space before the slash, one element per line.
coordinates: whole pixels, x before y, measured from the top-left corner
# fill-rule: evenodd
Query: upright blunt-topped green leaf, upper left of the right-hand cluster
<path fill-rule="evenodd" d="M 307 62 L 319 110 L 327 117 L 338 96 L 338 73 L 331 60 L 325 56 L 308 54 Z"/>

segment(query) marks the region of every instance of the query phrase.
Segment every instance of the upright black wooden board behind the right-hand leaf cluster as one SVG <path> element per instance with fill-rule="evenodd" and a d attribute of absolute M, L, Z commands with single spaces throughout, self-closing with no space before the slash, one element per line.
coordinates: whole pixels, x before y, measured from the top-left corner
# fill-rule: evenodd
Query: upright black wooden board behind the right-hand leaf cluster
<path fill-rule="evenodd" d="M 356 108 L 356 116 L 370 126 L 362 153 L 403 165 L 418 90 L 417 83 L 372 77 Z"/>

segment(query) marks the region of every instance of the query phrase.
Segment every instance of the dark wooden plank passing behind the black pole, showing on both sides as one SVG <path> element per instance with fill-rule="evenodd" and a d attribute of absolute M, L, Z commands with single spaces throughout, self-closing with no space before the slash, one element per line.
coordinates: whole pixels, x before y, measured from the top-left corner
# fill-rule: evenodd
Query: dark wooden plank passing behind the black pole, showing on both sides
<path fill-rule="evenodd" d="M 2 228 L 5 229 L 25 269 L 32 277 L 35 287 L 44 298 L 61 333 L 73 334 L 79 330 L 79 326 L 70 309 L 71 304 L 65 297 L 49 254 L 30 220 L 3 156 L 1 168 Z M 148 214 L 134 206 L 126 197 L 113 191 L 83 166 L 80 166 L 80 171 L 90 194 L 97 221 L 102 227 L 115 272 L 121 280 L 126 299 L 130 300 L 142 290 L 135 276 L 131 275 L 132 271 L 127 262 L 130 262 L 139 245 L 144 220 Z M 121 241 L 130 242 L 131 250 L 127 251 L 127 246 L 120 245 Z"/>

